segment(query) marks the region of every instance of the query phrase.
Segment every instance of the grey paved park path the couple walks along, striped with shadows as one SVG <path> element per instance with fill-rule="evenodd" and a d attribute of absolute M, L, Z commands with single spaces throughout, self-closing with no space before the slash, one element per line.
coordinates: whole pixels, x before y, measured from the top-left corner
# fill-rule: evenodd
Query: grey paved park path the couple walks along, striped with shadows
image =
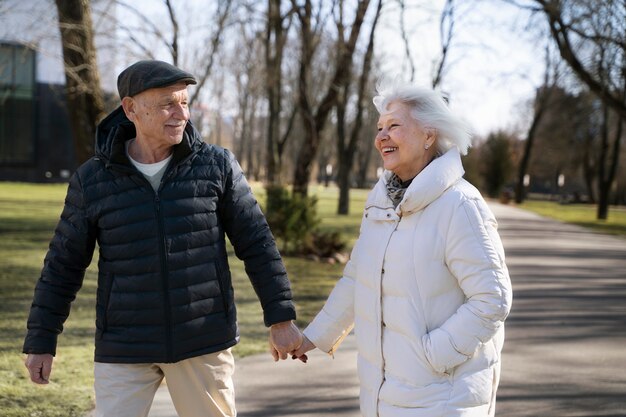
<path fill-rule="evenodd" d="M 497 416 L 625 417 L 626 240 L 492 208 L 514 288 Z M 239 416 L 359 416 L 355 355 L 237 361 Z M 165 387 L 150 417 L 176 417 Z"/>

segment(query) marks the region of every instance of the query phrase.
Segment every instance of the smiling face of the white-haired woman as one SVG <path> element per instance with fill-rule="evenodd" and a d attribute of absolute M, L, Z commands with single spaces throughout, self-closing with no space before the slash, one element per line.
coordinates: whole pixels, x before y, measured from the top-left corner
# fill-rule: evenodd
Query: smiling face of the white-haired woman
<path fill-rule="evenodd" d="M 378 119 L 375 141 L 384 168 L 402 181 L 419 174 L 435 156 L 433 130 L 421 126 L 410 113 L 410 107 L 401 102 L 389 103 Z"/>

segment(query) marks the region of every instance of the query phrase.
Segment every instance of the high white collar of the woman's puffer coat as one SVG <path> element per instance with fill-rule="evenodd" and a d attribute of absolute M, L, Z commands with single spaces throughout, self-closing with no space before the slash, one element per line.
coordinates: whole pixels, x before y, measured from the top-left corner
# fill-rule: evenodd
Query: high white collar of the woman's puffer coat
<path fill-rule="evenodd" d="M 395 212 L 402 216 L 424 209 L 459 181 L 464 173 L 458 149 L 450 149 L 417 174 Z M 391 171 L 385 171 L 380 177 L 367 198 L 366 210 L 370 208 L 393 210 L 393 203 L 387 196 L 387 181 L 391 175 Z"/>

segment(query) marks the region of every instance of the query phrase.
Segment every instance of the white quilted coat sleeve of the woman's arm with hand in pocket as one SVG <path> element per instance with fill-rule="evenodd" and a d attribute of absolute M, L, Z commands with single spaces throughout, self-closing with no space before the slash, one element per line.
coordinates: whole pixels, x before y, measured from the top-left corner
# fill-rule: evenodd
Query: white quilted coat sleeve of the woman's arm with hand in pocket
<path fill-rule="evenodd" d="M 511 309 L 511 281 L 497 223 L 482 199 L 464 200 L 455 210 L 445 261 L 466 301 L 423 337 L 427 358 L 439 372 L 472 357 L 504 325 Z"/>

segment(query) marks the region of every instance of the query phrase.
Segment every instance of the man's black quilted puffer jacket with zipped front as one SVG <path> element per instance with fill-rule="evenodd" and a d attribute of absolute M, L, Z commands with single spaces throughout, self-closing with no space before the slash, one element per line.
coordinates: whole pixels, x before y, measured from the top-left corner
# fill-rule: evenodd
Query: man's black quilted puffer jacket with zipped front
<path fill-rule="evenodd" d="M 225 235 L 267 326 L 295 318 L 274 238 L 232 154 L 187 124 L 158 192 L 130 163 L 121 108 L 98 126 L 96 157 L 70 180 L 28 319 L 24 353 L 55 354 L 98 243 L 97 362 L 159 363 L 238 341 Z"/>

